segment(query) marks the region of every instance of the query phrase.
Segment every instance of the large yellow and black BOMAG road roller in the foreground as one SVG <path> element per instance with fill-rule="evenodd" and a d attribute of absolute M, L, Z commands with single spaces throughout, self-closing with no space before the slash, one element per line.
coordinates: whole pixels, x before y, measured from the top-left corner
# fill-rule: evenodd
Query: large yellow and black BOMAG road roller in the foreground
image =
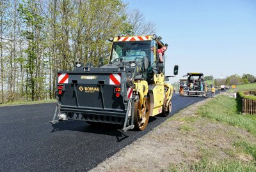
<path fill-rule="evenodd" d="M 123 131 L 147 127 L 148 118 L 172 110 L 173 87 L 166 83 L 164 62 L 157 49 L 168 46 L 155 34 L 111 38 L 106 65 L 77 62 L 72 71 L 58 72 L 57 107 L 52 124 L 83 120 L 89 124 L 118 124 Z M 178 74 L 174 66 L 173 74 Z"/>

